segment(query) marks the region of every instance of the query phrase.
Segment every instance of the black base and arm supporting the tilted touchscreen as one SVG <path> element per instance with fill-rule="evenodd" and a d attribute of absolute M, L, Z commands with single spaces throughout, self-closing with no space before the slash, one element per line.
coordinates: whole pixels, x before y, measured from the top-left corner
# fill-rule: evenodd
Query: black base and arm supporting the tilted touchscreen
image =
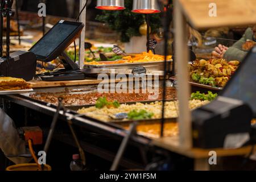
<path fill-rule="evenodd" d="M 84 80 L 88 75 L 79 69 L 79 65 L 74 63 L 72 59 L 63 52 L 59 56 L 61 63 L 64 65 L 64 69 L 60 69 L 56 72 L 47 72 L 36 75 L 43 81 L 68 81 L 68 80 Z"/>

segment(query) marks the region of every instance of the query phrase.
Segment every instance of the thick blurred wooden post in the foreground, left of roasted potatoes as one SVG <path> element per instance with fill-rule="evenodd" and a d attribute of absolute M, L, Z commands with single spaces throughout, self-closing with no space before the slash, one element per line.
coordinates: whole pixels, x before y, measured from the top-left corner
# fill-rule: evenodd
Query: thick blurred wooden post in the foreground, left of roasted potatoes
<path fill-rule="evenodd" d="M 176 0 L 174 5 L 175 55 L 177 65 L 177 98 L 179 100 L 179 143 L 180 147 L 192 147 L 191 113 L 188 108 L 190 87 L 188 84 L 188 32 L 187 22 Z"/>

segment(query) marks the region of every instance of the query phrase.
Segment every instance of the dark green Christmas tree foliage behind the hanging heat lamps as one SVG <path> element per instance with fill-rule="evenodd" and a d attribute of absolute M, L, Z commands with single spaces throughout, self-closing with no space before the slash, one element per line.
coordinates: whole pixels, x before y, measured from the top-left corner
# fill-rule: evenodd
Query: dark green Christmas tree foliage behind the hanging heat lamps
<path fill-rule="evenodd" d="M 102 11 L 97 15 L 96 20 L 108 23 L 109 27 L 121 33 L 121 42 L 129 42 L 133 36 L 141 36 L 139 27 L 144 23 L 145 16 L 131 12 L 133 9 L 133 0 L 125 1 L 125 10 L 121 11 Z M 160 14 L 150 14 L 151 32 L 155 33 L 161 26 Z"/>

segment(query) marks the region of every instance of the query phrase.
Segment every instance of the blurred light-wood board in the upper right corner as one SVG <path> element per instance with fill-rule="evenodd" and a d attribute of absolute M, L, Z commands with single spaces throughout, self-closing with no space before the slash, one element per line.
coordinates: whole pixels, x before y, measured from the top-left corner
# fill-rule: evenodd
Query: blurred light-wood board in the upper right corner
<path fill-rule="evenodd" d="M 256 23 L 255 0 L 179 0 L 179 3 L 196 29 Z"/>

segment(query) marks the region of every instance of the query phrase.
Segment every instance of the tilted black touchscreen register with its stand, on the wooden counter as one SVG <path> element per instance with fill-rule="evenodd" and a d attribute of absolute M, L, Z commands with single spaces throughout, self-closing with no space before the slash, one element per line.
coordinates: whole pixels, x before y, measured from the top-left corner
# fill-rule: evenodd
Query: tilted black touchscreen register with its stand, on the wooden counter
<path fill-rule="evenodd" d="M 37 60 L 47 63 L 59 57 L 64 69 L 36 75 L 44 81 L 83 80 L 86 73 L 79 68 L 75 60 L 64 52 L 65 49 L 80 36 L 84 24 L 60 20 L 29 49 L 36 55 Z"/>

